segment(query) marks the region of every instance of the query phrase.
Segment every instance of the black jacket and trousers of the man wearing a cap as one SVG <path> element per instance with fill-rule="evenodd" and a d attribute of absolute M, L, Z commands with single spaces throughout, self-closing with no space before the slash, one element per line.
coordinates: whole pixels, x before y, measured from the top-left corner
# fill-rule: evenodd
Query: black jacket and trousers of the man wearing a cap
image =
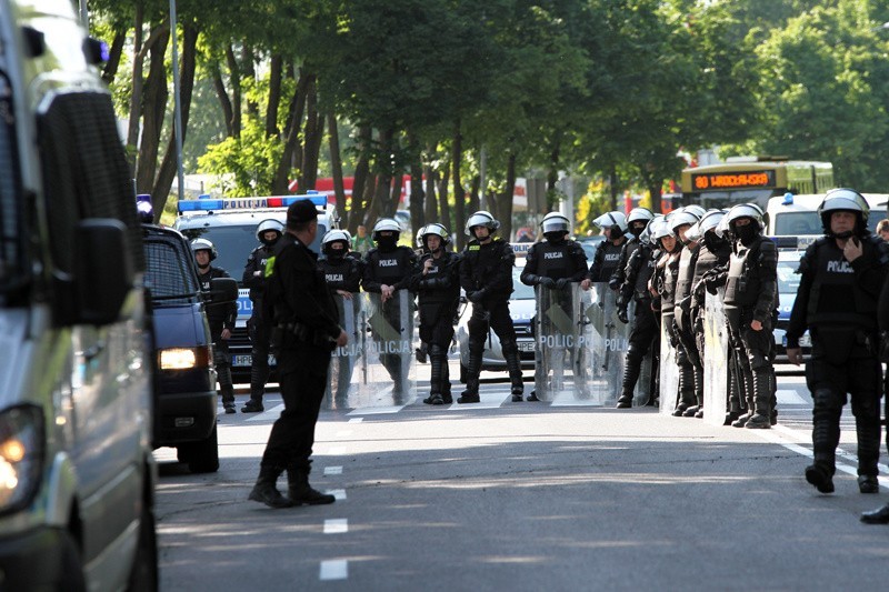
<path fill-rule="evenodd" d="M 276 478 L 286 469 L 289 478 L 307 482 L 330 353 L 341 332 L 317 257 L 286 233 L 274 245 L 266 293 L 284 410 L 272 425 L 261 469 Z"/>

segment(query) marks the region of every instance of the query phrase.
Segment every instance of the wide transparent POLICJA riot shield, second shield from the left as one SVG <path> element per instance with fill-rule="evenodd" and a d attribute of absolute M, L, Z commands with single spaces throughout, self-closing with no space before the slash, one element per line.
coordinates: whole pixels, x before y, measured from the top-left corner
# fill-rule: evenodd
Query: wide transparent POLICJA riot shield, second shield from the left
<path fill-rule="evenodd" d="M 398 290 L 382 302 L 381 294 L 364 294 L 367 331 L 361 364 L 353 372 L 358 388 L 352 407 L 390 407 L 410 403 L 416 394 L 413 367 L 413 294 Z"/>

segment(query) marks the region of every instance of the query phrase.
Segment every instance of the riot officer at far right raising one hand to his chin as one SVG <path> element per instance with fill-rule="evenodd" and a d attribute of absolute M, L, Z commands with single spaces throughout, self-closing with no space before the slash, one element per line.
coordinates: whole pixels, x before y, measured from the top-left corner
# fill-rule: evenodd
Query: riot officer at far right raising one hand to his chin
<path fill-rule="evenodd" d="M 806 480 L 833 491 L 833 472 L 846 393 L 858 431 L 858 486 L 877 493 L 880 454 L 880 363 L 877 310 L 887 272 L 887 249 L 867 228 L 869 208 L 851 189 L 828 191 L 818 214 L 825 235 L 800 259 L 797 299 L 787 329 L 787 355 L 799 365 L 799 338 L 812 338 L 806 383 L 812 393 L 815 462 Z"/>

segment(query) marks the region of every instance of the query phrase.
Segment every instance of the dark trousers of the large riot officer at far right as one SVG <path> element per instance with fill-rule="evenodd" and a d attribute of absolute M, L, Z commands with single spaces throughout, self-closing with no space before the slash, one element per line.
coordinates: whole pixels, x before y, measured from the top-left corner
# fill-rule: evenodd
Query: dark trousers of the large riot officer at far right
<path fill-rule="evenodd" d="M 815 462 L 833 474 L 840 415 L 849 393 L 858 432 L 858 474 L 876 475 L 880 454 L 880 363 L 866 345 L 855 342 L 855 337 L 825 338 L 819 339 L 812 331 L 812 357 L 806 364 L 806 384 L 815 403 Z"/>

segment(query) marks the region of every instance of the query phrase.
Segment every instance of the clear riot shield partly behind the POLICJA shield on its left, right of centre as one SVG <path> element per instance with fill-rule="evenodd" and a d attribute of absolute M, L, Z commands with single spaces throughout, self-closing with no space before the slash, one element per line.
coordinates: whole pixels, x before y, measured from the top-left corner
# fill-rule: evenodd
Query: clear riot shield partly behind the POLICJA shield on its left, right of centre
<path fill-rule="evenodd" d="M 591 398 L 613 407 L 620 395 L 629 343 L 630 323 L 618 319 L 617 293 L 597 282 L 590 289 L 586 311 L 591 332 Z"/>

